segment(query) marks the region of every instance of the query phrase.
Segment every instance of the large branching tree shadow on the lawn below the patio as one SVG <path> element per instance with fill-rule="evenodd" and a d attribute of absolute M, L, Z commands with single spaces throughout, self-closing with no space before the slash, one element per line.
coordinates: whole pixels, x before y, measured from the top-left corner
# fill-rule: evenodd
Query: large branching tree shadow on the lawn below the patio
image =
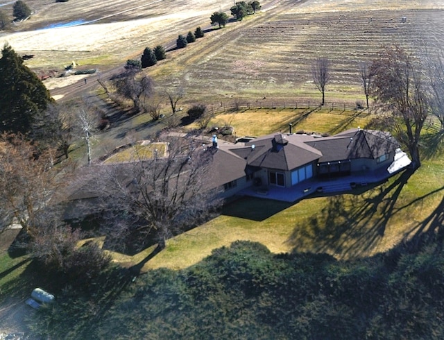
<path fill-rule="evenodd" d="M 374 248 L 395 214 L 395 203 L 413 171 L 407 169 L 398 178 L 360 195 L 327 198 L 317 215 L 296 225 L 288 243 L 295 250 L 334 253 L 346 258 L 364 255 Z"/>

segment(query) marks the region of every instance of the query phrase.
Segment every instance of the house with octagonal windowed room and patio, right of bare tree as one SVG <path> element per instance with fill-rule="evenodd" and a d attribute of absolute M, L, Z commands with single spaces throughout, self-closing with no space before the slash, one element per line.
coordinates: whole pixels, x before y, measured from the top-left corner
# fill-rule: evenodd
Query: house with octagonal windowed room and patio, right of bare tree
<path fill-rule="evenodd" d="M 243 194 L 293 202 L 315 191 L 381 182 L 411 163 L 389 133 L 361 128 L 329 137 L 275 133 L 216 144 L 213 185 L 223 187 L 225 198 Z"/>

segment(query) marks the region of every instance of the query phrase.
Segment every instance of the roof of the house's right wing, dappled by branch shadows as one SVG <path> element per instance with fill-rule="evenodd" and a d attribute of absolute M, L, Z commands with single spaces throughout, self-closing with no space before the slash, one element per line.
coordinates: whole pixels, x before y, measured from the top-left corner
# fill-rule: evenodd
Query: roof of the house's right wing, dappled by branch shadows
<path fill-rule="evenodd" d="M 350 129 L 331 137 L 306 142 L 322 152 L 319 162 L 353 160 L 357 158 L 376 159 L 399 148 L 390 133 L 378 130 Z"/>

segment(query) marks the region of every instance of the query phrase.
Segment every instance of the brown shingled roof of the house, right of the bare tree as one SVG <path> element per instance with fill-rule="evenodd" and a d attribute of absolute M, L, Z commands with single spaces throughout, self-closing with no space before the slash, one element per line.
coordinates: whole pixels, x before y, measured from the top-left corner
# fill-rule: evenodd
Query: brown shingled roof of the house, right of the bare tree
<path fill-rule="evenodd" d="M 350 129 L 331 137 L 318 135 L 266 135 L 245 144 L 223 144 L 214 153 L 214 184 L 245 176 L 250 168 L 291 171 L 310 162 L 356 158 L 376 159 L 399 148 L 389 134 Z"/>

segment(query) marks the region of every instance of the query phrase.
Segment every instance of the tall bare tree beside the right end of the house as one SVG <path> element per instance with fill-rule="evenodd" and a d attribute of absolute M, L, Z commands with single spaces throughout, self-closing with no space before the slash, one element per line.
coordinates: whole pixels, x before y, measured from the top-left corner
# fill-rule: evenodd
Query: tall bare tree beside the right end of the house
<path fill-rule="evenodd" d="M 387 47 L 373 61 L 371 73 L 373 98 L 384 112 L 390 112 L 391 128 L 407 146 L 413 166 L 420 167 L 420 135 L 429 113 L 420 62 L 400 46 Z"/>

